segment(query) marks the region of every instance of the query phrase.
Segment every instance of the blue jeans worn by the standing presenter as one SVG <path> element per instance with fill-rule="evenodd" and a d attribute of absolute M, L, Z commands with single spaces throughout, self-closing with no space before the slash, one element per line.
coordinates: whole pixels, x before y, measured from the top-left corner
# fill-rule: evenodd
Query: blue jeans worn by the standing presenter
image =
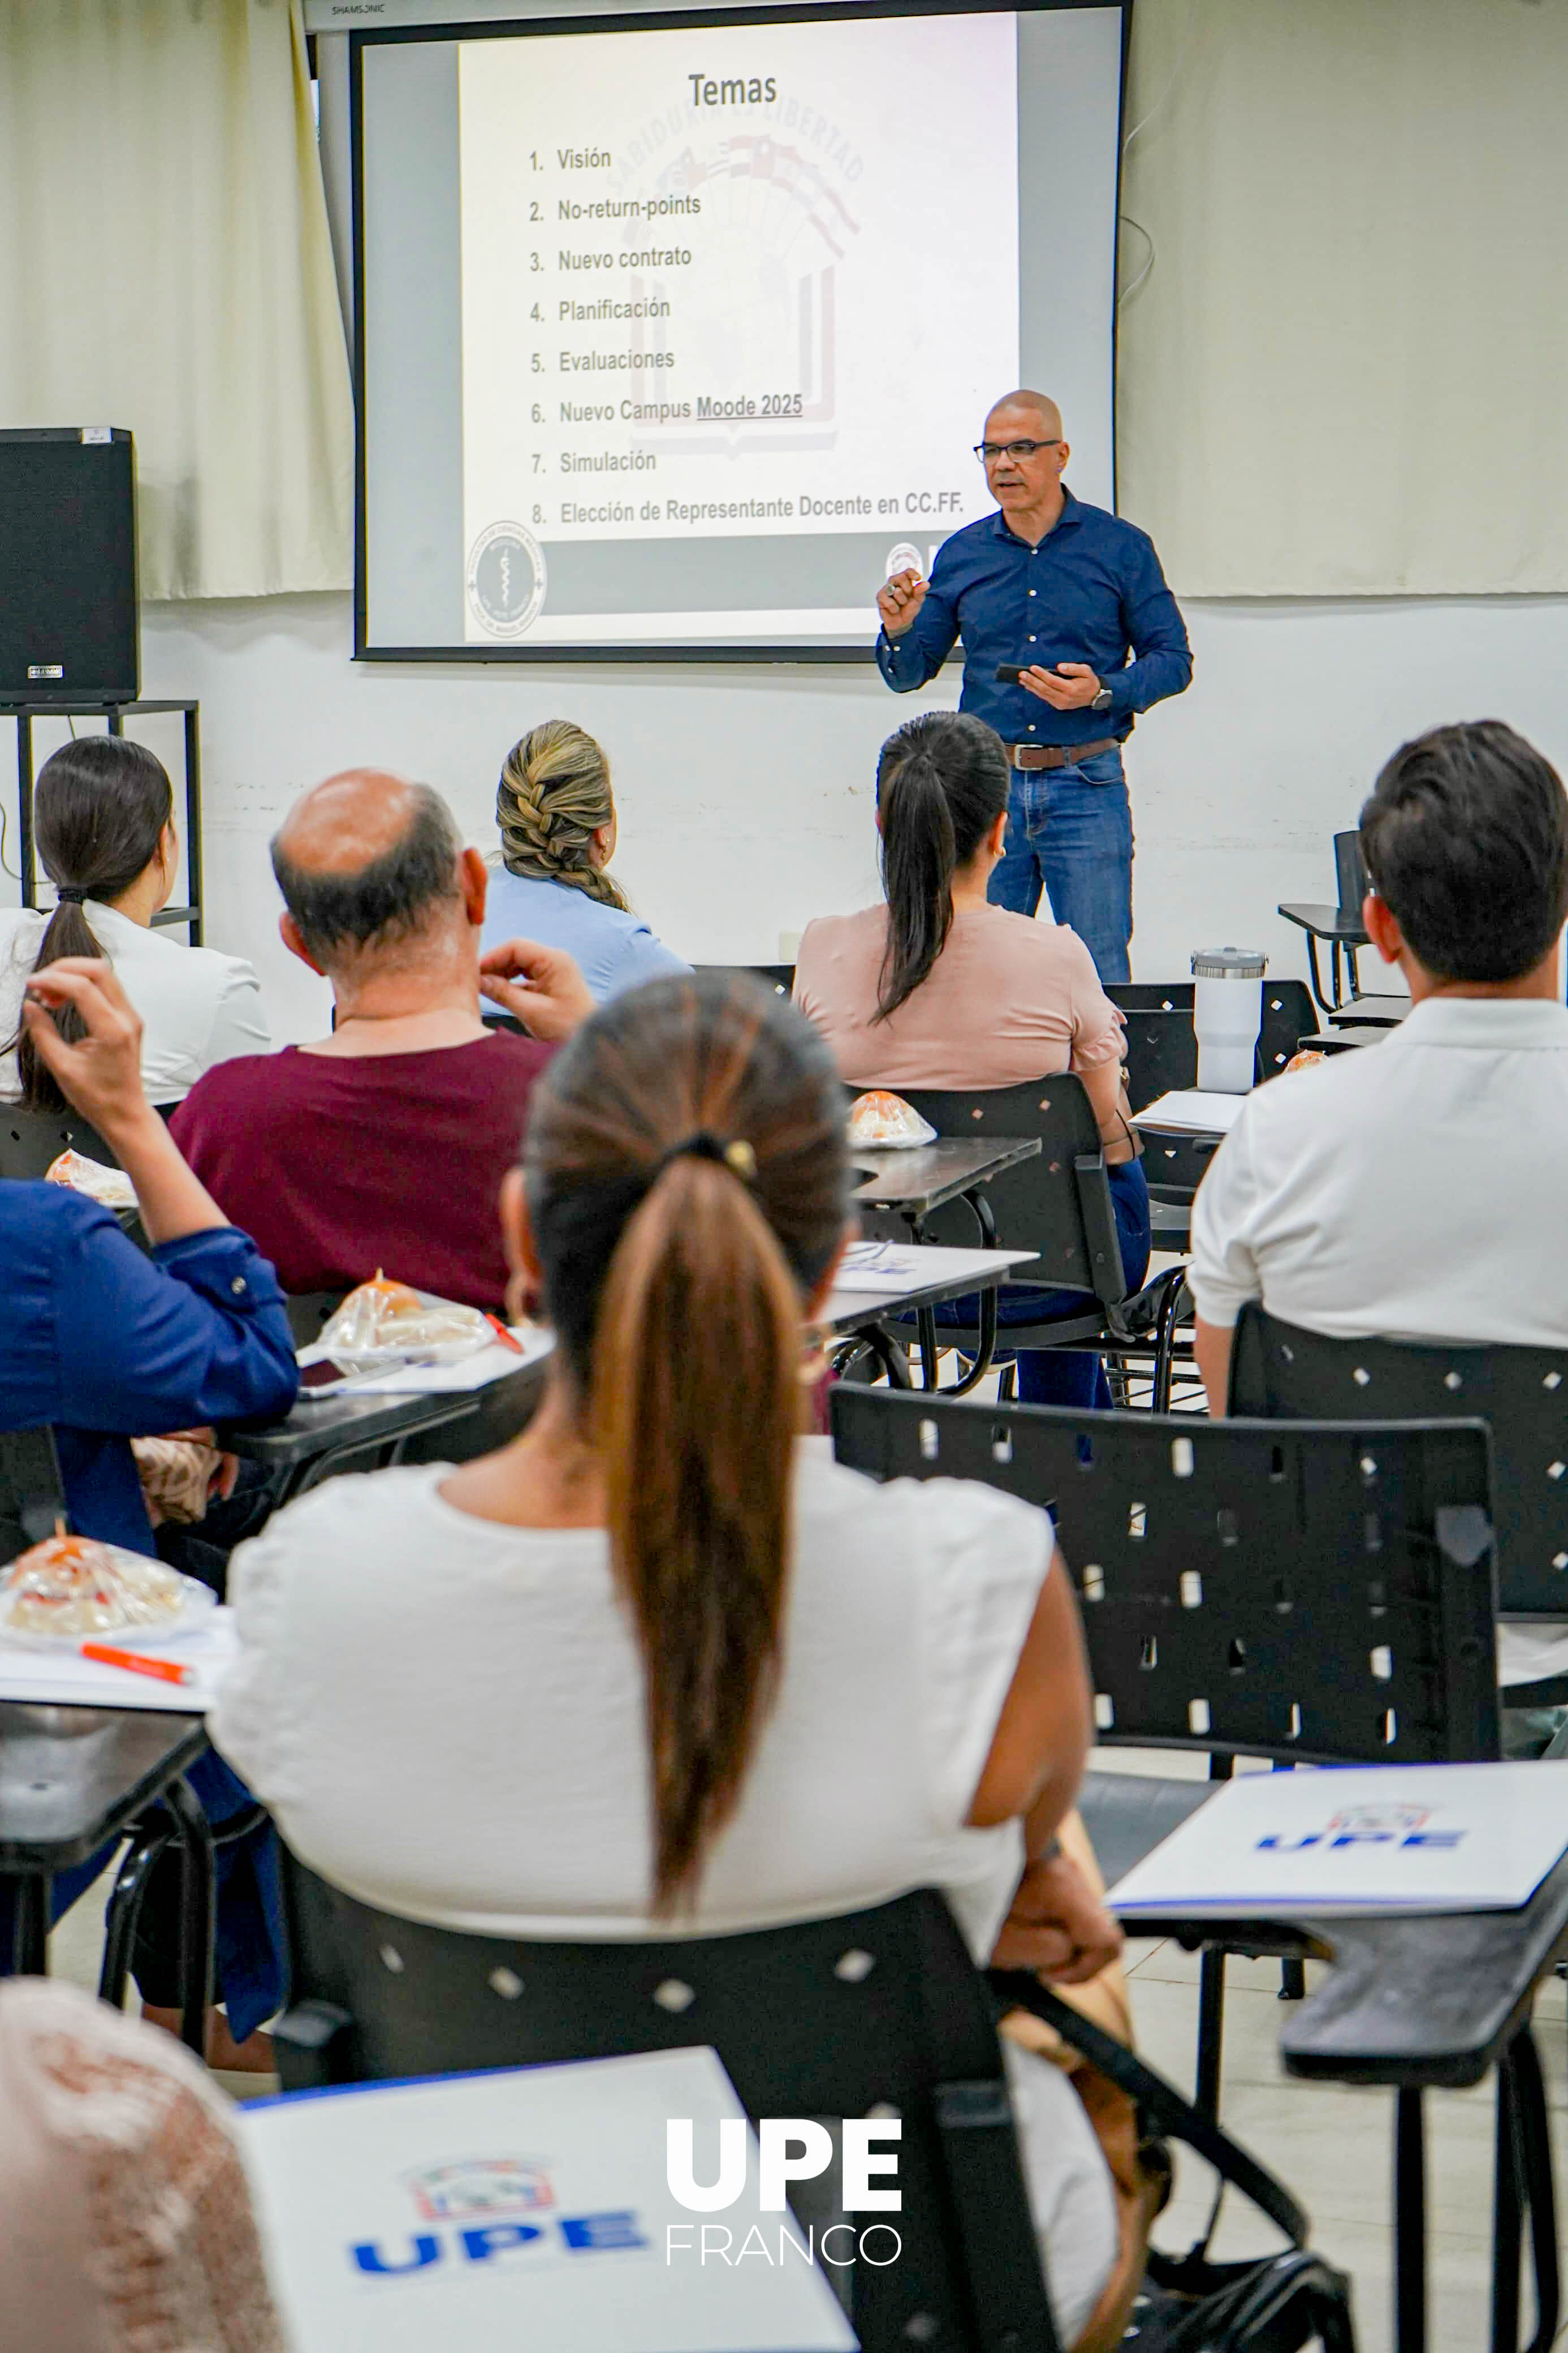
<path fill-rule="evenodd" d="M 1079 934 L 1103 981 L 1131 981 L 1133 812 L 1121 753 L 1074 767 L 1013 769 L 1006 847 L 992 868 L 992 906 L 1032 915 L 1039 894 Z"/>

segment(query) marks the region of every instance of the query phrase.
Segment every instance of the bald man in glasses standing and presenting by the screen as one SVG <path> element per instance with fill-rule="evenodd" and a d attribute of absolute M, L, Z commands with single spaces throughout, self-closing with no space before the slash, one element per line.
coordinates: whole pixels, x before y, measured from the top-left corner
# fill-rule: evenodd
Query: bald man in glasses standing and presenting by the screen
<path fill-rule="evenodd" d="M 1103 981 L 1131 979 L 1133 819 L 1121 746 L 1133 720 L 1192 680 L 1187 631 L 1145 532 L 1063 482 L 1063 419 L 1009 393 L 976 445 L 994 515 L 877 598 L 877 666 L 893 694 L 936 678 L 964 638 L 959 708 L 997 729 L 1013 767 L 997 906 L 1032 915 L 1041 885 Z M 1011 666 L 1018 682 L 999 680 Z"/>

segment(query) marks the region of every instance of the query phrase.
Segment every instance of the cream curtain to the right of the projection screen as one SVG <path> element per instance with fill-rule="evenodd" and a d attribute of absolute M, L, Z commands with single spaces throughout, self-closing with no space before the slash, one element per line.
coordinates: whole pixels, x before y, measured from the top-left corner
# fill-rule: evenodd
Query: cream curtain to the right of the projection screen
<path fill-rule="evenodd" d="M 1568 7 L 1135 0 L 1126 129 L 1119 506 L 1173 586 L 1568 588 Z"/>

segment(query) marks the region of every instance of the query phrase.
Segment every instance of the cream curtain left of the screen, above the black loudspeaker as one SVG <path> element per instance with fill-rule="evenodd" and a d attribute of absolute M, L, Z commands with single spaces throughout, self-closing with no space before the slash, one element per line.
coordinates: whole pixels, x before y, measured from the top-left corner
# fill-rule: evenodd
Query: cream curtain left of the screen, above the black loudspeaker
<path fill-rule="evenodd" d="M 134 431 L 146 598 L 348 586 L 299 0 L 0 0 L 0 424 Z"/>

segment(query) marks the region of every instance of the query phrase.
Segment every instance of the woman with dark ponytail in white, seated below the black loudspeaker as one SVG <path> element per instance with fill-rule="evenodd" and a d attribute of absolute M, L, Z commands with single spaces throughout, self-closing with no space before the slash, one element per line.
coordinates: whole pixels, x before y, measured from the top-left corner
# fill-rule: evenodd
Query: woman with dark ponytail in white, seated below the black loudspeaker
<path fill-rule="evenodd" d="M 33 972 L 61 955 L 103 955 L 141 1014 L 148 1104 L 183 1104 L 197 1078 L 235 1054 L 266 1054 L 256 974 L 237 955 L 186 948 L 153 918 L 179 875 L 174 791 L 160 760 L 129 736 L 78 736 L 38 769 L 33 838 L 54 908 L 0 915 L 0 1096 L 61 1111 L 63 1096 L 21 1026 Z M 63 1016 L 63 1035 L 80 1031 Z"/>

